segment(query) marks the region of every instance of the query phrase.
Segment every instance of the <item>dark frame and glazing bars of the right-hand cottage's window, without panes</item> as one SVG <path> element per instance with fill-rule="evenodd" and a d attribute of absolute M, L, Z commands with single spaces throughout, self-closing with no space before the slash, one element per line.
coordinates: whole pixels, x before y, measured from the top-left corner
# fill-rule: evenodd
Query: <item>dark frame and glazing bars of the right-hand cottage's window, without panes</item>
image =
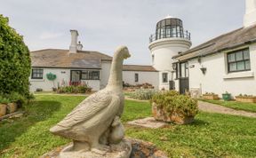
<path fill-rule="evenodd" d="M 244 59 L 244 52 L 246 52 L 246 51 L 249 53 L 249 59 Z M 243 59 L 237 59 L 236 60 L 236 53 L 238 53 L 238 52 L 242 52 Z M 234 54 L 235 55 L 235 60 L 234 61 L 229 61 L 228 57 L 229 57 L 230 54 Z M 249 63 L 250 63 L 250 68 L 249 69 L 246 69 L 246 64 L 245 64 L 246 61 L 249 61 Z M 239 62 L 243 62 L 244 63 L 244 69 L 238 70 L 237 63 L 239 63 Z M 234 64 L 234 63 L 236 63 L 236 70 L 230 71 L 230 65 Z M 243 50 L 238 50 L 238 51 L 228 52 L 227 53 L 227 65 L 228 65 L 228 73 L 237 73 L 237 72 L 243 72 L 243 71 L 251 71 L 251 58 L 250 58 L 250 50 L 249 50 L 249 48 L 245 48 Z"/>

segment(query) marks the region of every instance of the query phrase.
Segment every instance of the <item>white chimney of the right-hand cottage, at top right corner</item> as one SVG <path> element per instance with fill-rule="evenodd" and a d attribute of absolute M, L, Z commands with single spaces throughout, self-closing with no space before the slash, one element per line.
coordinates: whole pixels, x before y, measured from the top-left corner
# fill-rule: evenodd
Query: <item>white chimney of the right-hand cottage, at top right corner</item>
<path fill-rule="evenodd" d="M 245 0 L 244 28 L 256 24 L 256 0 Z"/>

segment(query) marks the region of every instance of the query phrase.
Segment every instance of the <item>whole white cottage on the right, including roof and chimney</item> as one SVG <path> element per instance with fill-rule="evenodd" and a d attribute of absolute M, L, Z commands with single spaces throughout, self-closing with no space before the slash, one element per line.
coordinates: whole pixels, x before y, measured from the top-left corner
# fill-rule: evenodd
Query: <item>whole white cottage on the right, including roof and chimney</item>
<path fill-rule="evenodd" d="M 176 60 L 176 80 L 180 91 L 194 95 L 214 92 L 221 96 L 256 95 L 256 0 L 246 0 L 244 27 L 213 38 Z"/>

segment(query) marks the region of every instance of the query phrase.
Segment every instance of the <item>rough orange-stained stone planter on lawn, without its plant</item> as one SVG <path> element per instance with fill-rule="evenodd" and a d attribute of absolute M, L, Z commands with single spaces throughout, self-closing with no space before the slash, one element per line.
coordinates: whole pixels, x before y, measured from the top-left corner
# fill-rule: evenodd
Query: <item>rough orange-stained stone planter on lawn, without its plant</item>
<path fill-rule="evenodd" d="M 157 107 L 156 103 L 152 104 L 152 114 L 154 118 L 160 122 L 174 122 L 176 124 L 188 124 L 194 122 L 194 117 L 180 115 L 176 111 L 168 113 L 163 108 Z"/>

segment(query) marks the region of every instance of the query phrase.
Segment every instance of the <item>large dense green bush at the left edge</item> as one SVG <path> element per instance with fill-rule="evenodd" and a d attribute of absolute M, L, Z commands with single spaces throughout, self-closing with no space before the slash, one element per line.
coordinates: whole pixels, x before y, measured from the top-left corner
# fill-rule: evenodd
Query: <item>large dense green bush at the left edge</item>
<path fill-rule="evenodd" d="M 0 93 L 28 97 L 31 60 L 23 37 L 0 15 Z"/>

